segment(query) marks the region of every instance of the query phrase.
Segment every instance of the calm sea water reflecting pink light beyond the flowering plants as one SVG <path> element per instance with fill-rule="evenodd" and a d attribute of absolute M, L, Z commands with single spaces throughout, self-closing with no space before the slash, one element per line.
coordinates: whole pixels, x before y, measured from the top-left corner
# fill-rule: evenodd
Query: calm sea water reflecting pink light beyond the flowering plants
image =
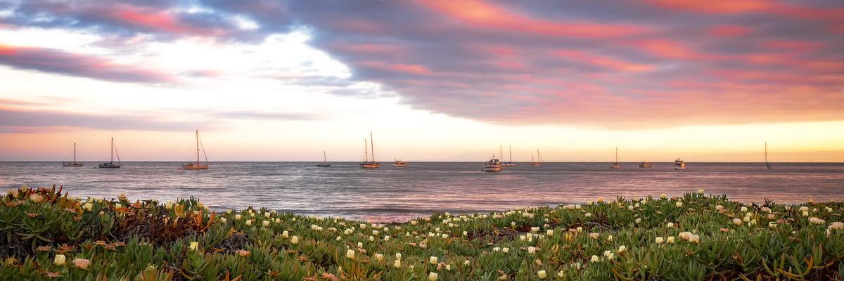
<path fill-rule="evenodd" d="M 209 208 L 268 207 L 354 219 L 408 219 L 438 211 L 473 213 L 583 203 L 598 197 L 679 195 L 703 188 L 744 202 L 844 200 L 844 164 L 519 163 L 484 173 L 482 162 L 417 162 L 363 170 L 357 163 L 317 168 L 309 162 L 212 162 L 210 170 L 177 170 L 175 162 L 125 162 L 120 169 L 65 168 L 61 163 L 0 162 L 0 187 L 49 186 L 79 197 L 199 197 Z"/>

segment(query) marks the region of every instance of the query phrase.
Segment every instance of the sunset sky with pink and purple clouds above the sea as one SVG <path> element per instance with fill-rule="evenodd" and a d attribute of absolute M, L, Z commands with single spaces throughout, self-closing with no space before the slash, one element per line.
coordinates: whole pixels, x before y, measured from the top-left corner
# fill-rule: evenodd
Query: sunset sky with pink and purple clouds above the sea
<path fill-rule="evenodd" d="M 0 160 L 844 161 L 844 2 L 0 0 Z"/>

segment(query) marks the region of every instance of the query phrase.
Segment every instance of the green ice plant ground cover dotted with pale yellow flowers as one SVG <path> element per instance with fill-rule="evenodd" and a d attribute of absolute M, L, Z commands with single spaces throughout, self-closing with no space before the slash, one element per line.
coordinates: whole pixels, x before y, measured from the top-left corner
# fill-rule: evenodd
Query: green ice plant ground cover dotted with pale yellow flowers
<path fill-rule="evenodd" d="M 774 280 L 844 276 L 842 202 L 617 198 L 371 224 L 12 190 L 0 279 Z"/>

